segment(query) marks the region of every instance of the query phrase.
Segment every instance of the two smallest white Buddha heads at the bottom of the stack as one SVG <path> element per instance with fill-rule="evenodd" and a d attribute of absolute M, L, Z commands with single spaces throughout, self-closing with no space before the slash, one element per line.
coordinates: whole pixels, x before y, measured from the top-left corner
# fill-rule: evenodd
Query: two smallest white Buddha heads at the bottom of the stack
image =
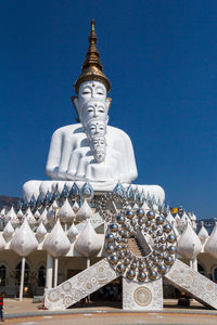
<path fill-rule="evenodd" d="M 90 139 L 90 148 L 98 162 L 102 162 L 106 155 L 106 141 L 101 134 L 95 134 Z"/>

